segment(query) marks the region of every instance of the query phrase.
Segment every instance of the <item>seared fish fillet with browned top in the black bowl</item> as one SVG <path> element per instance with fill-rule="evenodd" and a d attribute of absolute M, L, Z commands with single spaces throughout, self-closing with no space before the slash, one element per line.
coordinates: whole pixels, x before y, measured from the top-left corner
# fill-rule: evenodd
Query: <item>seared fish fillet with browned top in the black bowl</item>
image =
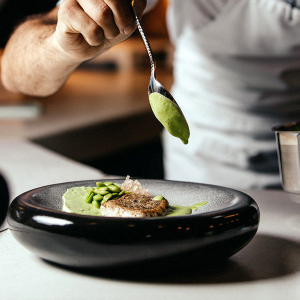
<path fill-rule="evenodd" d="M 158 216 L 167 208 L 167 200 L 153 200 L 151 196 L 137 193 L 108 200 L 100 206 L 102 216 L 146 217 Z"/>

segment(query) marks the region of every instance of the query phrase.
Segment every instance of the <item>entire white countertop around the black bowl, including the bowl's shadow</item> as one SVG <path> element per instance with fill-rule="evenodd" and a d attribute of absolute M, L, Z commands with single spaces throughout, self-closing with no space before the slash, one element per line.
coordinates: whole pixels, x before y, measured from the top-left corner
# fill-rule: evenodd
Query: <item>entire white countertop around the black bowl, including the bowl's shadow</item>
<path fill-rule="evenodd" d="M 41 185 L 106 177 L 25 140 L 0 139 L 0 172 L 11 198 Z M 36 159 L 38 157 L 38 159 Z M 110 177 L 108 175 L 108 177 Z M 9 299 L 300 299 L 300 203 L 280 190 L 245 191 L 260 209 L 255 237 L 213 268 L 164 280 L 87 275 L 49 264 L 0 231 L 0 298 Z M 138 277 L 138 276 L 137 276 Z"/>

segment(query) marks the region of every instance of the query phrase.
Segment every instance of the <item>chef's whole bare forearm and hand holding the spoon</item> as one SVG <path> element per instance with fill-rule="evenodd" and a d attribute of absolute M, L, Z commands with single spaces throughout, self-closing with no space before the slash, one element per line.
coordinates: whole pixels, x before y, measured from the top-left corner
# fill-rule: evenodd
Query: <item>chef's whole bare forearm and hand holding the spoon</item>
<path fill-rule="evenodd" d="M 141 14 L 146 0 L 135 0 Z M 135 29 L 129 0 L 63 0 L 47 14 L 29 17 L 9 38 L 1 79 L 12 92 L 55 93 L 83 61 L 127 38 Z"/>

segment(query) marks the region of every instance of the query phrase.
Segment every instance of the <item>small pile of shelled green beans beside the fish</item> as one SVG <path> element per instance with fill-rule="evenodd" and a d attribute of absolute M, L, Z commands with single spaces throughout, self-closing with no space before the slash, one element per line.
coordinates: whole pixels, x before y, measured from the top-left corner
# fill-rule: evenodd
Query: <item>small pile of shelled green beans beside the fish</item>
<path fill-rule="evenodd" d="M 111 181 L 96 182 L 97 187 L 91 187 L 85 194 L 84 201 L 91 203 L 96 208 L 108 200 L 115 200 L 124 194 L 131 193 L 130 190 L 121 189 L 120 184 Z"/>

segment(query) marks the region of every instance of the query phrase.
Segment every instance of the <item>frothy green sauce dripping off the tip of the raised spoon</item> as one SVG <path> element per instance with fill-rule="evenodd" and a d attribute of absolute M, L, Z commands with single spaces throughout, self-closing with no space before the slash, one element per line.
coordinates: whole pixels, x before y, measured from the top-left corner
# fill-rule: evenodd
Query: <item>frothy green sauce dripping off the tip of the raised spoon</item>
<path fill-rule="evenodd" d="M 179 106 L 158 92 L 149 94 L 149 102 L 154 115 L 164 128 L 171 135 L 180 138 L 184 144 L 187 144 L 189 128 Z"/>

